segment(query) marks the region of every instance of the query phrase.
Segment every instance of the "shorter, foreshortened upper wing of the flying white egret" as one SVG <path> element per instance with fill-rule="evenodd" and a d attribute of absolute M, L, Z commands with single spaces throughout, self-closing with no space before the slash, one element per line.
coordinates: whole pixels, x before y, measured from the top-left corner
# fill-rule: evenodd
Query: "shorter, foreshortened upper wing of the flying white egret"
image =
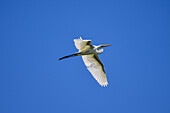
<path fill-rule="evenodd" d="M 74 43 L 79 51 L 87 50 L 93 47 L 91 40 L 83 40 L 81 37 L 80 39 L 74 39 Z"/>

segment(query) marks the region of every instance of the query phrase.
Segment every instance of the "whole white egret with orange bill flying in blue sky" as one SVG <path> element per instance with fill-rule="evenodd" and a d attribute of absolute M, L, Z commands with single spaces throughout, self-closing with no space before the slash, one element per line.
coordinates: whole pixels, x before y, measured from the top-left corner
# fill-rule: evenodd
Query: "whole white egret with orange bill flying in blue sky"
<path fill-rule="evenodd" d="M 76 48 L 79 50 L 79 52 L 75 54 L 71 54 L 68 56 L 64 56 L 60 58 L 59 60 L 73 57 L 73 56 L 82 56 L 82 59 L 87 67 L 87 69 L 90 71 L 90 73 L 93 75 L 93 77 L 97 80 L 97 82 L 101 86 L 107 86 L 107 77 L 105 73 L 104 66 L 102 62 L 100 61 L 98 54 L 103 53 L 103 47 L 111 46 L 111 45 L 99 45 L 95 46 L 91 44 L 91 40 L 83 40 L 81 37 L 79 39 L 74 39 L 74 43 Z"/>

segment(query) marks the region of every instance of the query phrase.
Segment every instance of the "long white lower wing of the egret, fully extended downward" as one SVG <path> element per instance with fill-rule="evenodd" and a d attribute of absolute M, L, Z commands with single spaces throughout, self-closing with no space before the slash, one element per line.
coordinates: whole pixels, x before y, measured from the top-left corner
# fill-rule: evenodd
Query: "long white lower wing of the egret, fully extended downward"
<path fill-rule="evenodd" d="M 107 78 L 104 66 L 96 54 L 83 55 L 82 59 L 87 69 L 101 86 L 107 86 Z"/>

